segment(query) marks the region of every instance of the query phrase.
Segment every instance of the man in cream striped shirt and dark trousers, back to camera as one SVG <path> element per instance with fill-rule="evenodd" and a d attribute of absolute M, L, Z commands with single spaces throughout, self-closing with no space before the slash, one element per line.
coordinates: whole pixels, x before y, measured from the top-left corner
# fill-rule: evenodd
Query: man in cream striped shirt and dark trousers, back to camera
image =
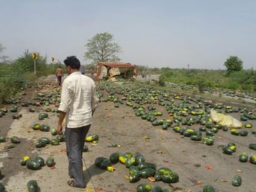
<path fill-rule="evenodd" d="M 91 126 L 93 112 L 98 104 L 94 81 L 80 73 L 80 62 L 75 56 L 64 60 L 68 77 L 63 82 L 60 101 L 58 132 L 62 134 L 62 122 L 66 116 L 66 154 L 71 187 L 85 188 L 82 149 Z"/>

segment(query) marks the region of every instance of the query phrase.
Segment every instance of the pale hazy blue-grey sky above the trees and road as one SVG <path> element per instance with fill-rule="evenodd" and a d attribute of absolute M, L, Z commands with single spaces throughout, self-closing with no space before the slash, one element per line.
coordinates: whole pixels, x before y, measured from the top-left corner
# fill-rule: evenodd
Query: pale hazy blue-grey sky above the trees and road
<path fill-rule="evenodd" d="M 238 55 L 256 68 L 256 1 L 0 0 L 0 43 L 16 59 L 25 49 L 63 61 L 93 35 L 109 32 L 123 62 L 170 68 L 224 68 Z"/>

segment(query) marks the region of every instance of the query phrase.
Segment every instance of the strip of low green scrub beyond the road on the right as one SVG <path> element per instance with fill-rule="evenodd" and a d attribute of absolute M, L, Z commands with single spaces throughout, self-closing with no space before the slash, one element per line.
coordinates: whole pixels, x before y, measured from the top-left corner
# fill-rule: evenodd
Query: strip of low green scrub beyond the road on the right
<path fill-rule="evenodd" d="M 233 71 L 229 76 L 225 70 L 162 68 L 160 72 L 166 82 L 196 85 L 201 91 L 204 87 L 256 90 L 256 71 L 253 69 Z"/>

